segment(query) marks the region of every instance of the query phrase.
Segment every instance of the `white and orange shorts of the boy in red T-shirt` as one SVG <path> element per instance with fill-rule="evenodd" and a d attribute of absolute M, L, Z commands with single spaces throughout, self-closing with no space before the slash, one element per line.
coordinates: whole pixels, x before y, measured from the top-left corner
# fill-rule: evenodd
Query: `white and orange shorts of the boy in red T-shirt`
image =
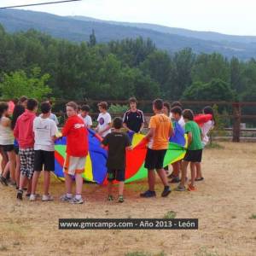
<path fill-rule="evenodd" d="M 84 172 L 86 157 L 75 157 L 68 155 L 63 167 L 63 172 L 69 175 L 81 174 Z"/>

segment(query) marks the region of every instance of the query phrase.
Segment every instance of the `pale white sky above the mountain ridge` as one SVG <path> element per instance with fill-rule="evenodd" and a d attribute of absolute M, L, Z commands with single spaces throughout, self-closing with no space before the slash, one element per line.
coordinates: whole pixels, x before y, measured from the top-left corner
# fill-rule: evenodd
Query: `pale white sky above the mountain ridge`
<path fill-rule="evenodd" d="M 1 0 L 0 7 L 50 1 L 57 0 Z M 256 36 L 255 0 L 82 0 L 26 9 Z"/>

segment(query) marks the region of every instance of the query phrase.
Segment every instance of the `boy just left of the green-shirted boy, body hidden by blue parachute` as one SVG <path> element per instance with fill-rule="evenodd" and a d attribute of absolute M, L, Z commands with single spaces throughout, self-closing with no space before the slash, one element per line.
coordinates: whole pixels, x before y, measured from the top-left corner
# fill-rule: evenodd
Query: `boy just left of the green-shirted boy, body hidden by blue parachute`
<path fill-rule="evenodd" d="M 182 108 L 180 107 L 173 107 L 171 109 L 172 119 L 174 120 L 174 125 L 176 123 L 180 125 L 183 129 L 185 126 L 185 122 L 182 117 Z M 169 183 L 178 183 L 179 182 L 179 172 L 181 170 L 182 160 L 178 160 L 177 162 L 172 164 L 172 173 L 169 177 L 172 179 L 169 181 Z"/>

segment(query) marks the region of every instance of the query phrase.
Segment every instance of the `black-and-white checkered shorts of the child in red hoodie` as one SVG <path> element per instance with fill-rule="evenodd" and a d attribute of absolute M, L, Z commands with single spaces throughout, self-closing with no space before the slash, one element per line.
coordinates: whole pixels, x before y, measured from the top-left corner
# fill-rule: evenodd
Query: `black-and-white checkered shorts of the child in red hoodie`
<path fill-rule="evenodd" d="M 34 148 L 20 148 L 20 174 L 31 179 L 34 173 Z"/>

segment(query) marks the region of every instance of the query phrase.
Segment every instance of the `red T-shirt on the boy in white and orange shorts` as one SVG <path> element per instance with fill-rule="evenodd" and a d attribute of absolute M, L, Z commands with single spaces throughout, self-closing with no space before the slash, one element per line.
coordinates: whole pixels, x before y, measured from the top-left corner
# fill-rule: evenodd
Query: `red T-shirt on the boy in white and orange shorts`
<path fill-rule="evenodd" d="M 62 136 L 67 136 L 67 154 L 84 157 L 88 154 L 88 131 L 84 121 L 78 115 L 67 119 L 62 130 Z"/>

